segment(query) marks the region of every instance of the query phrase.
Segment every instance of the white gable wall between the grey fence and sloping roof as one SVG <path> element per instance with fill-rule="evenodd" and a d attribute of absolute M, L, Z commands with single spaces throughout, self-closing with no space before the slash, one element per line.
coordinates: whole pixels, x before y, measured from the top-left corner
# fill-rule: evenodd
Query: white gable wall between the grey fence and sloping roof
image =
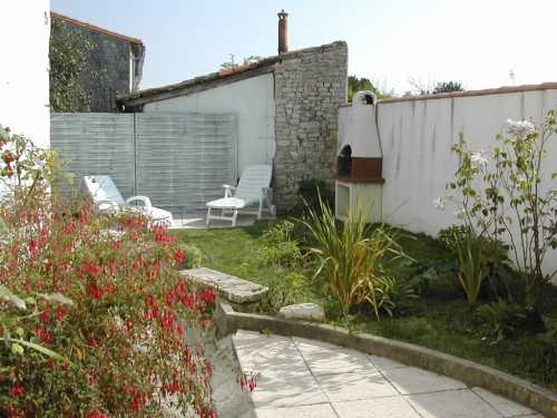
<path fill-rule="evenodd" d="M 238 135 L 238 176 L 248 165 L 273 163 L 275 105 L 272 74 L 145 104 L 144 111 L 235 114 Z"/>

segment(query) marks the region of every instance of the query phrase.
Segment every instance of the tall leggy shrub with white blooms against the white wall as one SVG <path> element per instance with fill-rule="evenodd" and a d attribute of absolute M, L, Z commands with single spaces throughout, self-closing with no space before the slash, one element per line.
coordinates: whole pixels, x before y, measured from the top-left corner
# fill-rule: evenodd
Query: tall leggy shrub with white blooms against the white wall
<path fill-rule="evenodd" d="M 557 173 L 543 178 L 547 144 L 556 133 L 557 110 L 551 110 L 539 127 L 509 119 L 488 153 L 468 149 L 463 139 L 453 147 L 460 166 L 449 188 L 459 194 L 449 200 L 457 203 L 457 215 L 469 231 L 494 245 L 509 243 L 528 303 L 536 303 L 541 284 L 557 274 L 541 270 L 557 249 Z M 433 202 L 439 208 L 446 203 Z"/>

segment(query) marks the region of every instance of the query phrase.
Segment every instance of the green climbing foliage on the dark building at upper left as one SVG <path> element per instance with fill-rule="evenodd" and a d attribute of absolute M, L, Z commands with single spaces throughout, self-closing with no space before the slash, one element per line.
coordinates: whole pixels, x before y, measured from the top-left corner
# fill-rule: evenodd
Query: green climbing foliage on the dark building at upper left
<path fill-rule="evenodd" d="M 78 32 L 69 32 L 60 19 L 50 29 L 50 109 L 88 111 L 90 95 L 81 81 L 94 45 Z"/>

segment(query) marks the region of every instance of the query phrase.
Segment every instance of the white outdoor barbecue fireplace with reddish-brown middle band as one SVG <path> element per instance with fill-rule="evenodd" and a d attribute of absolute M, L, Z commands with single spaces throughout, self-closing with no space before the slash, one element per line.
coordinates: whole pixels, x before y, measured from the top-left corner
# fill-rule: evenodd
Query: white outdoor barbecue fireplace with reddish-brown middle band
<path fill-rule="evenodd" d="M 335 214 L 345 220 L 360 206 L 370 222 L 381 220 L 382 154 L 371 91 L 354 95 L 352 106 L 339 109 Z"/>

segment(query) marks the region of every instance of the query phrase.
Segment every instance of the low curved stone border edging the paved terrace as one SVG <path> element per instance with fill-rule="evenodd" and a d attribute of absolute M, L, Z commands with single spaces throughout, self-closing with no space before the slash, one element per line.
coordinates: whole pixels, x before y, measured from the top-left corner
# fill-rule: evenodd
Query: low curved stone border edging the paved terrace
<path fill-rule="evenodd" d="M 237 330 L 268 331 L 281 336 L 324 341 L 370 354 L 387 357 L 408 366 L 458 379 L 469 387 L 487 389 L 531 408 L 546 417 L 557 418 L 556 393 L 490 367 L 436 350 L 369 333 L 351 334 L 343 328 L 328 324 L 286 321 L 267 315 L 235 312 L 229 304 L 222 301 L 216 308 L 215 324 L 218 334 L 223 337 Z"/>

